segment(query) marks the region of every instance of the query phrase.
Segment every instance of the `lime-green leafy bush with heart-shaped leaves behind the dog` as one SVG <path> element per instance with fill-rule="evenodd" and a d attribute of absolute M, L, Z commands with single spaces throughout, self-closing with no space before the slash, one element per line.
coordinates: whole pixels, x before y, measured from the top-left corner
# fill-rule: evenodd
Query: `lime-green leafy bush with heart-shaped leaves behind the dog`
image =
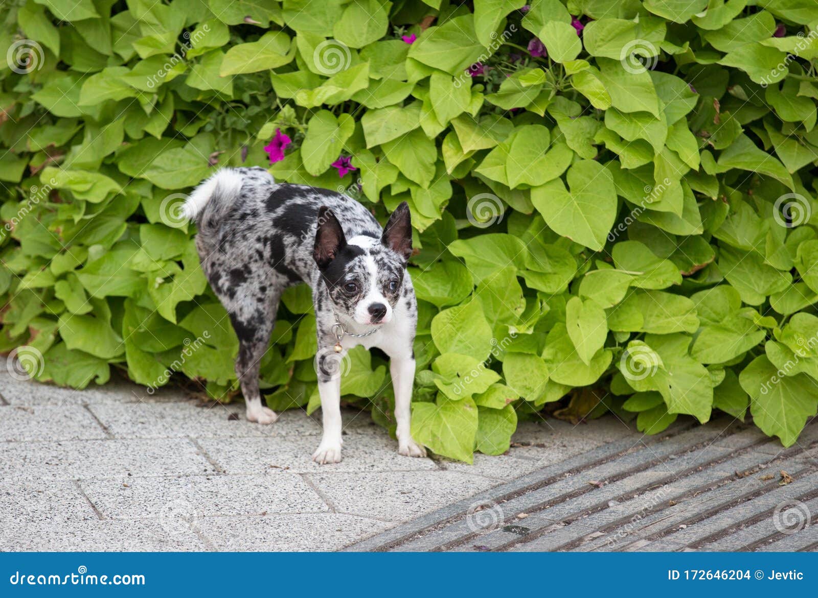
<path fill-rule="evenodd" d="M 521 4 L 7 2 L 0 350 L 60 385 L 114 366 L 235 397 L 176 215 L 215 168 L 264 165 L 380 218 L 409 203 L 413 430 L 436 453 L 502 453 L 556 401 L 648 433 L 749 408 L 793 444 L 818 404 L 818 5 Z M 272 408 L 317 408 L 314 329 L 290 289 Z M 343 368 L 389 427 L 382 356 Z"/>

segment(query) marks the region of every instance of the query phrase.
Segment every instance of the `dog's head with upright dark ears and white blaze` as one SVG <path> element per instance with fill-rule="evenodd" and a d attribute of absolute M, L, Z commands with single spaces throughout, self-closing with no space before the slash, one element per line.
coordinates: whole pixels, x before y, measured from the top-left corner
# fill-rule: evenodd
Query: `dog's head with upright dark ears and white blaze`
<path fill-rule="evenodd" d="M 361 235 L 349 241 L 335 214 L 321 206 L 312 255 L 335 310 L 358 324 L 386 324 L 411 256 L 409 206 L 403 202 L 392 212 L 380 239 Z"/>

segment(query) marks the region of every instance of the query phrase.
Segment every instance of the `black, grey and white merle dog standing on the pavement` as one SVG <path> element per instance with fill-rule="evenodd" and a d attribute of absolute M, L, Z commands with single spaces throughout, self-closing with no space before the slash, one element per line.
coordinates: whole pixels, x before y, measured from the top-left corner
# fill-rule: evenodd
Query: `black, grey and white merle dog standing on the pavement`
<path fill-rule="evenodd" d="M 410 432 L 415 377 L 412 344 L 417 304 L 407 261 L 409 208 L 402 203 L 381 229 L 354 199 L 306 185 L 276 183 L 263 168 L 222 168 L 187 199 L 183 212 L 199 227 L 196 248 L 213 292 L 239 338 L 236 374 L 250 422 L 269 424 L 258 364 L 267 350 L 284 289 L 312 287 L 316 371 L 324 432 L 312 455 L 341 460 L 340 368 L 346 351 L 376 346 L 390 358 L 398 452 L 423 457 Z"/>

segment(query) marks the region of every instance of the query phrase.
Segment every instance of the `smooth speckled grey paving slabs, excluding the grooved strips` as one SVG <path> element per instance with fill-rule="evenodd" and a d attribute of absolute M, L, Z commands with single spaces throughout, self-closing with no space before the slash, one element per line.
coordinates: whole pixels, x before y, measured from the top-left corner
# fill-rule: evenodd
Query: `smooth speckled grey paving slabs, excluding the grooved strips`
<path fill-rule="evenodd" d="M 615 417 L 524 423 L 474 465 L 398 455 L 344 413 L 344 461 L 310 460 L 320 418 L 245 421 L 242 404 L 120 380 L 75 391 L 0 369 L 0 550 L 334 551 L 597 447 L 642 435 Z"/>

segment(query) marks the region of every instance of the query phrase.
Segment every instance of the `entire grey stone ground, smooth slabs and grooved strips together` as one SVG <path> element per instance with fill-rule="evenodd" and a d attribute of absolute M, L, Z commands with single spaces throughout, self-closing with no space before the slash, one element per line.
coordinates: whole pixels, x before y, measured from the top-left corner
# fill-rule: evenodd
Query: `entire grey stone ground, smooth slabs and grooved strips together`
<path fill-rule="evenodd" d="M 470 466 L 402 457 L 348 410 L 344 461 L 318 466 L 320 419 L 243 412 L 0 369 L 0 551 L 818 547 L 818 422 L 784 450 L 730 419 L 654 437 L 613 416 L 549 419 Z"/>

